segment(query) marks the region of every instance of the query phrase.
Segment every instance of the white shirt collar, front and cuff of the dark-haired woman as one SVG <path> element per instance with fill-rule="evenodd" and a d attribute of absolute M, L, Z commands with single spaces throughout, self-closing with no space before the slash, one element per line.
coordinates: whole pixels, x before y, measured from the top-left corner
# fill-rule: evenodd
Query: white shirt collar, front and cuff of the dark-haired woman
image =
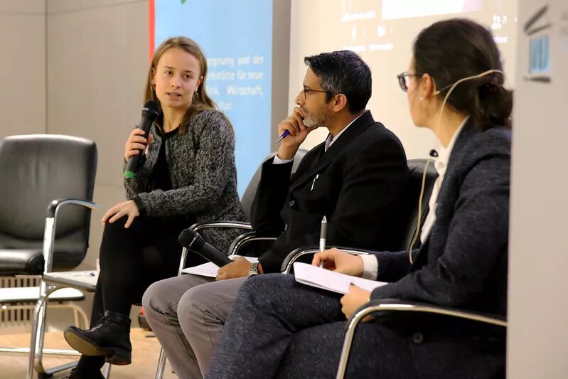
<path fill-rule="evenodd" d="M 422 233 L 420 233 L 420 242 L 424 243 L 432 230 L 432 226 L 436 222 L 436 205 L 438 205 L 438 194 L 440 193 L 441 183 L 444 181 L 444 175 L 446 174 L 446 168 L 448 167 L 448 161 L 450 159 L 451 150 L 454 149 L 454 144 L 456 139 L 458 139 L 463 125 L 466 124 L 468 117 L 463 120 L 461 125 L 458 127 L 454 135 L 451 137 L 448 147 L 444 147 L 439 144 L 437 149 L 438 159 L 434 162 L 434 168 L 438 173 L 438 178 L 434 182 L 434 188 L 432 188 L 432 195 L 430 196 L 430 201 L 428 203 L 429 212 L 426 220 L 424 221 L 424 226 L 422 227 Z M 360 255 L 363 259 L 363 277 L 365 279 L 377 279 L 379 271 L 379 262 L 377 261 L 376 255 Z"/>

